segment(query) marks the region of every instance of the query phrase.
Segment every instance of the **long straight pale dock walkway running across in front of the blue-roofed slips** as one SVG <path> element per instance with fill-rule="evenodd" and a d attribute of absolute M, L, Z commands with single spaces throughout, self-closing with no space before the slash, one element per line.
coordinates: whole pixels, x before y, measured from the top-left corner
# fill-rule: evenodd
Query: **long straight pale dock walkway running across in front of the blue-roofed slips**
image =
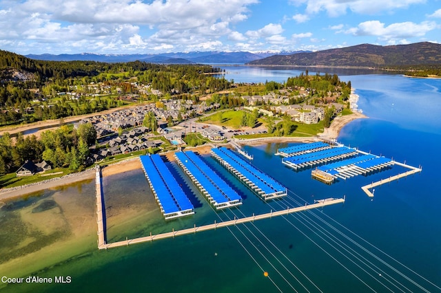
<path fill-rule="evenodd" d="M 323 199 L 323 200 L 316 202 L 315 204 L 306 204 L 305 206 L 298 206 L 296 208 L 287 208 L 286 210 L 278 210 L 278 211 L 274 211 L 274 212 L 271 211 L 270 213 L 265 213 L 265 214 L 261 214 L 261 215 L 253 215 L 252 217 L 243 217 L 243 218 L 239 218 L 239 219 L 233 219 L 230 221 L 221 221 L 220 223 L 216 223 L 216 221 L 214 221 L 214 224 L 209 224 L 209 225 L 205 225 L 205 226 L 198 226 L 198 227 L 194 226 L 194 228 L 187 228 L 187 229 L 176 230 L 176 231 L 172 230 L 172 232 L 165 232 L 165 233 L 161 233 L 161 234 L 150 235 L 150 236 L 140 237 L 140 238 L 135 238 L 135 239 L 127 239 L 124 241 L 103 244 L 101 246 L 99 245 L 98 248 L 99 249 L 116 248 L 119 246 L 129 246 L 130 244 L 151 242 L 151 241 L 159 240 L 159 239 L 187 235 L 187 234 L 202 232 L 202 231 L 206 231 L 206 230 L 213 230 L 216 228 L 233 226 L 236 224 L 243 224 L 243 223 L 247 223 L 250 221 L 257 221 L 260 219 L 268 219 L 271 217 L 277 217 L 277 216 L 281 216 L 281 215 L 289 215 L 291 213 L 301 212 L 302 210 L 311 210 L 313 208 L 321 208 L 323 206 L 330 206 L 331 204 L 342 204 L 344 202 L 345 202 L 345 198 Z"/>

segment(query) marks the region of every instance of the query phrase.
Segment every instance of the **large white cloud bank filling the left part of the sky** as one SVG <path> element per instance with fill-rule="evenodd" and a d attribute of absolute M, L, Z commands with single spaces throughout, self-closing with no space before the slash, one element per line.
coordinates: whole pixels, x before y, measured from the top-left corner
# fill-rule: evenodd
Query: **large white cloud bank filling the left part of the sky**
<path fill-rule="evenodd" d="M 51 52 L 68 52 L 73 42 L 87 50 L 185 50 L 199 42 L 218 45 L 220 36 L 245 41 L 230 25 L 245 21 L 254 3 L 258 0 L 0 0 L 0 39 Z"/>

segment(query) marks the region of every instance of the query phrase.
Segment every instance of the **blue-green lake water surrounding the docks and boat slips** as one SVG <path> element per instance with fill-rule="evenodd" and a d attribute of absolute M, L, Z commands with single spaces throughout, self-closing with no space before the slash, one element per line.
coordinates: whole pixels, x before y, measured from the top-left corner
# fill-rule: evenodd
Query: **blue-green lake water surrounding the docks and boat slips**
<path fill-rule="evenodd" d="M 226 78 L 233 78 L 235 82 L 283 81 L 300 74 L 297 69 L 274 67 L 225 69 Z M 309 73 L 314 74 L 312 69 Z M 245 146 L 246 151 L 254 155 L 255 166 L 289 188 L 289 198 L 265 204 L 212 158 L 205 157 L 244 198 L 240 208 L 215 213 L 176 165 L 167 163 L 196 207 L 196 215 L 167 223 L 152 200 L 142 171 L 114 175 L 104 180 L 107 237 L 112 241 L 280 210 L 326 197 L 346 195 L 346 202 L 289 217 L 107 251 L 96 250 L 93 238 L 79 255 L 65 252 L 72 248 L 59 244 L 58 253 L 69 256 L 59 257 L 56 263 L 43 264 L 42 261 L 41 267 L 37 265 L 32 271 L 38 276 L 72 276 L 71 283 L 10 285 L 3 290 L 441 292 L 441 188 L 438 184 L 441 80 L 366 72 L 362 75 L 336 73 L 342 80 L 351 80 L 360 96 L 358 105 L 369 116 L 344 127 L 338 140 L 413 166 L 421 165 L 422 173 L 376 188 L 372 200 L 360 187 L 397 173 L 396 167 L 328 186 L 312 180 L 311 170 L 296 173 L 280 163 L 274 152 L 291 144 Z M 21 209 L 30 210 L 32 205 L 52 197 L 59 200 L 57 196 L 62 195 L 79 197 L 82 201 L 87 197 L 85 202 L 93 202 L 93 184 L 85 182 L 83 188 L 68 188 L 19 201 L 17 208 L 3 207 L 0 216 L 19 223 L 20 215 L 23 216 Z M 65 213 L 66 209 L 68 206 L 61 211 Z M 120 223 L 119 219 L 127 217 L 127 213 L 134 219 Z M 91 218 L 93 213 L 84 221 L 91 222 L 95 232 Z M 0 233 L 11 236 L 20 233 L 12 225 L 8 227 L 8 231 Z M 6 249 L 6 244 L 0 243 L 0 252 L 1 248 Z M 2 262 L 0 259 L 0 276 L 14 276 L 10 275 L 13 272 L 5 271 L 14 266 L 5 266 Z M 269 278 L 263 276 L 264 271 L 269 273 Z"/>

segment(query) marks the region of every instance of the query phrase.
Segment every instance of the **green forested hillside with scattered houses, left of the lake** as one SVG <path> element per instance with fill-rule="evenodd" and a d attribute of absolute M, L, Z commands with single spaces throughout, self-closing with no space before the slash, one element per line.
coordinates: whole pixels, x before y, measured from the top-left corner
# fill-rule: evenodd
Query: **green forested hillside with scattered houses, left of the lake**
<path fill-rule="evenodd" d="M 219 71 L 141 61 L 37 61 L 0 51 L 0 126 L 93 113 L 134 98 L 198 99 L 230 86 L 212 75 Z"/>

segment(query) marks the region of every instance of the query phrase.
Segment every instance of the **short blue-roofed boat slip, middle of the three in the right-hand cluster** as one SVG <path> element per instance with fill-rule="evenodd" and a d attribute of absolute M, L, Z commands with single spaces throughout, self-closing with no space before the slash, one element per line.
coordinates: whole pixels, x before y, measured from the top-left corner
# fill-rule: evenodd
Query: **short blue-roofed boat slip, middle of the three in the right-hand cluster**
<path fill-rule="evenodd" d="M 329 162 L 342 160 L 355 155 L 358 155 L 356 149 L 350 149 L 347 146 L 336 146 L 321 151 L 310 151 L 309 153 L 283 158 L 282 163 L 297 170 L 318 164 L 327 164 Z"/>

